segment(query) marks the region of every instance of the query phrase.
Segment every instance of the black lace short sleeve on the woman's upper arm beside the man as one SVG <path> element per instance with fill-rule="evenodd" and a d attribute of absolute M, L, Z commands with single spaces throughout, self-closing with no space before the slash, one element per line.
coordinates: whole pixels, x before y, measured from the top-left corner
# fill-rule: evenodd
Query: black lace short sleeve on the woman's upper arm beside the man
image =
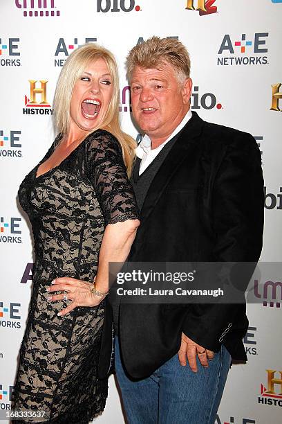
<path fill-rule="evenodd" d="M 88 179 L 95 187 L 105 224 L 138 219 L 135 195 L 115 136 L 104 130 L 93 132 L 86 155 Z"/>

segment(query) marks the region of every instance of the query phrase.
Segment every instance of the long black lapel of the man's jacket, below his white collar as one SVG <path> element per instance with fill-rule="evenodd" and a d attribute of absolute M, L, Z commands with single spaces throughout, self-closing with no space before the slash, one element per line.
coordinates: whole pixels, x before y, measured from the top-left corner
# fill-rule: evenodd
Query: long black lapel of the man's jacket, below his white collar
<path fill-rule="evenodd" d="M 167 187 L 167 184 L 169 184 L 171 177 L 182 164 L 182 161 L 185 160 L 187 154 L 191 152 L 197 137 L 202 132 L 203 123 L 203 119 L 196 112 L 193 112 L 193 116 L 183 128 L 149 187 L 140 211 L 141 222 L 144 222 L 148 218 L 164 189 Z"/>

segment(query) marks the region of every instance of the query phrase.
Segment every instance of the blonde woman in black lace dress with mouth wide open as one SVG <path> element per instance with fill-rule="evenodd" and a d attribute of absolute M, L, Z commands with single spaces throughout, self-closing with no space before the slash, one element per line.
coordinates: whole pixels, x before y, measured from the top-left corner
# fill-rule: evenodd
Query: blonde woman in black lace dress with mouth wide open
<path fill-rule="evenodd" d="M 105 405 L 97 364 L 108 264 L 126 259 L 140 224 L 127 179 L 135 143 L 120 129 L 118 102 L 113 55 L 77 48 L 55 92 L 59 134 L 19 188 L 36 260 L 12 407 L 44 412 L 46 423 L 88 423 Z"/>

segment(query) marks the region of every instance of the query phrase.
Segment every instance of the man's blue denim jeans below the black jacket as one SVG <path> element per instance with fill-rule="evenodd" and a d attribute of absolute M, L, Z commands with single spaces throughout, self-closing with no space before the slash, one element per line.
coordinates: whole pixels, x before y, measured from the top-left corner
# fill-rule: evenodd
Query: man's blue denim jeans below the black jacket
<path fill-rule="evenodd" d="M 198 361 L 194 373 L 176 354 L 149 378 L 132 381 L 124 373 L 116 337 L 115 371 L 129 424 L 214 424 L 230 362 L 221 346 L 208 368 Z"/>

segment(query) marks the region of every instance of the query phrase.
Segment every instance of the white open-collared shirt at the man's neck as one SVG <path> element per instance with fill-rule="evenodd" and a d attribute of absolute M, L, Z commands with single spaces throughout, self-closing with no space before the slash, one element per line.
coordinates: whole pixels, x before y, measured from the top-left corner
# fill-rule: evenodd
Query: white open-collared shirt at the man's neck
<path fill-rule="evenodd" d="M 135 154 L 137 157 L 141 159 L 141 164 L 139 168 L 139 175 L 144 173 L 144 170 L 148 168 L 148 166 L 153 162 L 153 159 L 158 156 L 160 153 L 160 150 L 166 145 L 169 140 L 173 139 L 178 132 L 182 130 L 183 127 L 187 124 L 189 119 L 192 117 L 191 109 L 187 112 L 185 117 L 182 119 L 180 124 L 176 127 L 176 129 L 172 132 L 172 134 L 169 136 L 167 140 L 164 140 L 162 144 L 160 144 L 156 149 L 151 149 L 151 139 L 150 137 L 145 134 L 142 138 L 142 141 L 138 144 L 138 147 L 135 148 Z"/>

